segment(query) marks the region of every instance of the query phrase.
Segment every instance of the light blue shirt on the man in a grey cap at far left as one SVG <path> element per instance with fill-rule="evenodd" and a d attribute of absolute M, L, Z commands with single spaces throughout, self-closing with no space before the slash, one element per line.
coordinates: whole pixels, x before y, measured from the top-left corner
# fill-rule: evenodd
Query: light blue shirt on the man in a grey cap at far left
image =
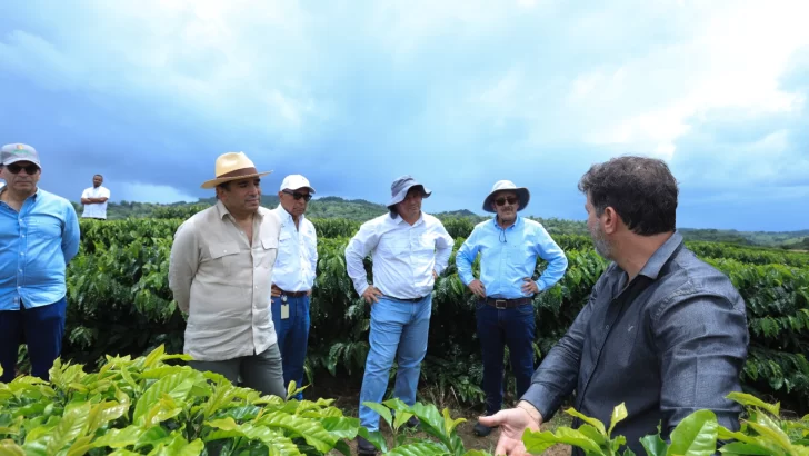
<path fill-rule="evenodd" d="M 79 218 L 67 199 L 38 189 L 18 212 L 0 201 L 0 310 L 47 306 L 67 294 Z"/>

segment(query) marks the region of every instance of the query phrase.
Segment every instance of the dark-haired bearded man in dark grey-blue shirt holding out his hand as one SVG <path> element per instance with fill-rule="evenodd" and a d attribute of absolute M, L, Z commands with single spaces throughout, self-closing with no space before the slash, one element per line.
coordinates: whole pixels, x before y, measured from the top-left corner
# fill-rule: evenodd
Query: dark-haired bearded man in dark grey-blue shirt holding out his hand
<path fill-rule="evenodd" d="M 517 408 L 480 418 L 500 426 L 496 454 L 525 454 L 523 432 L 537 430 L 573 390 L 573 407 L 603 423 L 626 403 L 629 417 L 613 435 L 626 436 L 636 454 L 658 424 L 667 438 L 703 408 L 738 429 L 741 407 L 726 396 L 741 390 L 745 301 L 727 276 L 683 246 L 669 168 L 650 158 L 613 158 L 591 167 L 579 189 L 596 250 L 612 264 Z"/>

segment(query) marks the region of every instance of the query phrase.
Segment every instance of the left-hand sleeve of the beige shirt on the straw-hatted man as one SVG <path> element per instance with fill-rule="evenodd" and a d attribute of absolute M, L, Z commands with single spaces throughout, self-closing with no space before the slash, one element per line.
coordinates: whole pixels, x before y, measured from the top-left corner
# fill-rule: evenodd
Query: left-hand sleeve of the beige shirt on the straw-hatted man
<path fill-rule="evenodd" d="M 180 310 L 188 313 L 191 299 L 191 282 L 199 267 L 199 241 L 193 226 L 180 225 L 171 245 L 169 259 L 169 288 Z"/>

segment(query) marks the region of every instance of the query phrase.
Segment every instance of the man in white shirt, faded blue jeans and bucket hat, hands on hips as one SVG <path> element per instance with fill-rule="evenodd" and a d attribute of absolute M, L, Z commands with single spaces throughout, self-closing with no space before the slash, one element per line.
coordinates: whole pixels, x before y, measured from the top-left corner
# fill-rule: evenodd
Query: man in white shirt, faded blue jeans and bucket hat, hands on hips
<path fill-rule="evenodd" d="M 388 388 L 393 358 L 399 353 L 394 396 L 404 404 L 416 403 L 421 360 L 427 353 L 427 335 L 432 310 L 432 287 L 446 268 L 453 241 L 443 225 L 421 211 L 421 201 L 431 191 L 410 176 L 391 185 L 389 214 L 362 224 L 346 247 L 346 268 L 357 293 L 371 304 L 371 349 L 360 391 L 360 423 L 370 432 L 379 429 L 379 414 L 363 405 L 380 403 Z M 363 258 L 373 259 L 373 284 L 368 284 Z M 413 417 L 408 425 L 416 426 Z M 360 454 L 376 453 L 374 446 L 358 437 Z"/>

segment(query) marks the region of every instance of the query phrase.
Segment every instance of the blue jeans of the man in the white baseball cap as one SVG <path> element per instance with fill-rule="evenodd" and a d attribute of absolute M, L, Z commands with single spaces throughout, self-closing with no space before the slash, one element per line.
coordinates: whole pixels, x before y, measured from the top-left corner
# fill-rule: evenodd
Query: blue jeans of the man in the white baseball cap
<path fill-rule="evenodd" d="M 281 298 L 272 298 L 272 324 L 278 335 L 278 348 L 281 350 L 283 366 L 283 387 L 294 380 L 298 388 L 303 386 L 303 363 L 307 358 L 309 344 L 309 296 L 299 298 L 287 297 L 289 318 L 281 319 Z M 302 400 L 303 394 L 298 393 L 296 399 Z"/>

